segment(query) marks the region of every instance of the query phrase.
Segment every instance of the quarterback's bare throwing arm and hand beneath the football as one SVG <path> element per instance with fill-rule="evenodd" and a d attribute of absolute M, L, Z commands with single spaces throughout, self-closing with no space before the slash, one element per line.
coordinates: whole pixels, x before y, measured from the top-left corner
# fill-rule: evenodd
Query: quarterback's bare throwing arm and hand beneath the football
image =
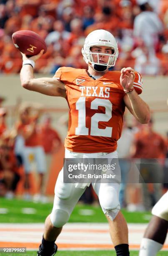
<path fill-rule="evenodd" d="M 36 61 L 43 54 L 43 50 L 40 54 L 27 58 L 25 54 L 22 54 L 23 60 L 31 59 Z M 43 77 L 34 78 L 33 67 L 31 65 L 23 65 L 20 71 L 21 85 L 27 90 L 40 92 L 45 95 L 50 96 L 60 96 L 66 97 L 66 87 L 65 84 L 60 82 L 56 78 Z"/>

